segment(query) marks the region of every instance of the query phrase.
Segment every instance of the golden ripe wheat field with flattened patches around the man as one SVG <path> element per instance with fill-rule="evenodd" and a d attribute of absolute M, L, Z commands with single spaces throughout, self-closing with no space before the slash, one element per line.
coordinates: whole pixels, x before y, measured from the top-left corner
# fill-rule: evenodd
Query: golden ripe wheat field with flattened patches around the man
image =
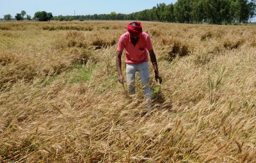
<path fill-rule="evenodd" d="M 256 27 L 142 22 L 144 115 L 139 75 L 118 83 L 128 23 L 0 22 L 0 161 L 256 162 Z"/>

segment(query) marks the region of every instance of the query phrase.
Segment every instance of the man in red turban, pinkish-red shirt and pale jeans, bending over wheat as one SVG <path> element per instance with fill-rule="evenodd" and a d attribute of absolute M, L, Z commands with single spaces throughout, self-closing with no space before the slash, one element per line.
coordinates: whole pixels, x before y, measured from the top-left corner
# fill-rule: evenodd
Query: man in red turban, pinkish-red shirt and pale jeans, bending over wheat
<path fill-rule="evenodd" d="M 131 22 L 127 25 L 127 33 L 120 36 L 116 54 L 116 67 L 119 76 L 119 82 L 124 84 L 124 76 L 122 75 L 121 57 L 125 49 L 125 63 L 127 86 L 130 95 L 135 94 L 135 73 L 139 72 L 141 84 L 144 88 L 145 108 L 151 109 L 151 92 L 149 82 L 148 68 L 148 52 L 150 60 L 155 70 L 155 78 L 162 82 L 162 77 L 159 75 L 157 68 L 156 55 L 154 53 L 150 37 L 142 31 L 141 22 Z M 148 50 L 148 52 L 147 52 Z"/>

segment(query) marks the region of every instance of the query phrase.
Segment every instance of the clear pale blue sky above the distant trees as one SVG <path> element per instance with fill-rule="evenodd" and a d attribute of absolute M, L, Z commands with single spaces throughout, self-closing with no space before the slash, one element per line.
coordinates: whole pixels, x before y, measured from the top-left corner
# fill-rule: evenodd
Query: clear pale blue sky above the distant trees
<path fill-rule="evenodd" d="M 10 14 L 13 18 L 24 10 L 34 17 L 36 12 L 51 12 L 58 15 L 93 15 L 133 13 L 152 9 L 157 3 L 175 4 L 177 0 L 0 0 L 0 18 Z M 26 16 L 25 16 L 26 17 Z"/>

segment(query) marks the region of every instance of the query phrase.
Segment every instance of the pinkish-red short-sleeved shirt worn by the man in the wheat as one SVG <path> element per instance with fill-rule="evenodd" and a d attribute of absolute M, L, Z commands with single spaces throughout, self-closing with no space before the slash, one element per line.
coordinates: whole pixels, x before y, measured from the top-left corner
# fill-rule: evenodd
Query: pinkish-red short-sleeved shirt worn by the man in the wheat
<path fill-rule="evenodd" d="M 138 42 L 134 46 L 132 44 L 130 33 L 127 32 L 124 33 L 124 35 L 120 36 L 118 41 L 117 50 L 122 52 L 124 49 L 126 50 L 125 63 L 139 64 L 148 61 L 147 50 L 152 50 L 153 47 L 150 37 L 147 33 L 142 32 L 139 36 Z"/>

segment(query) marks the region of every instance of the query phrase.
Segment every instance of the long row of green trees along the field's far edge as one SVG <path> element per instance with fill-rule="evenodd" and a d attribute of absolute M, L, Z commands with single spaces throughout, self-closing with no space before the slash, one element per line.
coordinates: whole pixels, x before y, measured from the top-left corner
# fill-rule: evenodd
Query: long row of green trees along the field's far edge
<path fill-rule="evenodd" d="M 256 16 L 256 0 L 178 0 L 130 14 L 45 16 L 46 20 L 146 20 L 158 22 L 232 24 L 248 23 Z M 41 12 L 39 12 L 41 13 Z M 45 12 L 46 13 L 46 12 Z M 33 19 L 42 20 L 35 13 Z M 47 13 L 46 13 L 47 15 Z M 44 20 L 45 20 L 44 19 Z"/>

